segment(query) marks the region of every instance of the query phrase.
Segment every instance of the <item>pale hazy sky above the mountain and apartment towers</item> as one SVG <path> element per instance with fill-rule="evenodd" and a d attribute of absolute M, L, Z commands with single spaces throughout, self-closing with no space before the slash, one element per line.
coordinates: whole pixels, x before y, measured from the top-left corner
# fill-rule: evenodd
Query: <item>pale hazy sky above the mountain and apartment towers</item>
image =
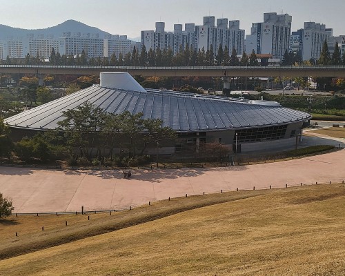
<path fill-rule="evenodd" d="M 155 30 L 156 21 L 202 24 L 204 16 L 239 20 L 250 34 L 252 22 L 262 22 L 264 12 L 293 16 L 295 31 L 304 22 L 314 21 L 333 28 L 334 35 L 345 34 L 344 0 L 0 0 L 0 24 L 26 29 L 56 26 L 75 19 L 111 34 L 134 38 L 141 30 Z"/>

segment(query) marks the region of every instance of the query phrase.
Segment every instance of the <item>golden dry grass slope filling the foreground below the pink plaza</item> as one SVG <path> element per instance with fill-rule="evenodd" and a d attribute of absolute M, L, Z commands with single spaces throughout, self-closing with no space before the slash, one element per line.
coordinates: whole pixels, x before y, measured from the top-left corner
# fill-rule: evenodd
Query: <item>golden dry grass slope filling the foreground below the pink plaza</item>
<path fill-rule="evenodd" d="M 174 208 L 185 211 L 172 215 Z M 161 218 L 145 222 L 148 214 Z M 74 224 L 81 232 L 113 228 L 125 217 L 144 223 L 3 259 L 0 275 L 345 275 L 344 184 L 174 199 L 92 223 L 80 215 Z M 21 219 L 23 227 L 39 225 Z M 46 219 L 52 229 L 41 239 L 63 236 L 66 226 L 53 230 L 57 218 Z M 5 247 L 26 239 L 9 236 L 15 226 L 1 225 Z"/>

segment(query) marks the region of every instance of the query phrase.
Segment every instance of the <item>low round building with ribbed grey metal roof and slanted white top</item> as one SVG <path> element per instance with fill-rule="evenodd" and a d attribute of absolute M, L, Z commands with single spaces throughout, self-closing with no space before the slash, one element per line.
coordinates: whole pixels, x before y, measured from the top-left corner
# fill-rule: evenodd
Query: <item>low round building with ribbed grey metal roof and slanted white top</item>
<path fill-rule="evenodd" d="M 173 154 L 218 141 L 242 152 L 282 148 L 295 144 L 296 135 L 311 115 L 282 107 L 273 101 L 248 101 L 226 97 L 142 88 L 128 73 L 101 73 L 100 84 L 21 112 L 5 119 L 12 135 L 23 137 L 57 127 L 63 111 L 92 103 L 105 112 L 143 112 L 143 118 L 159 118 L 178 139 L 159 149 Z M 152 148 L 148 149 L 150 153 Z"/>

